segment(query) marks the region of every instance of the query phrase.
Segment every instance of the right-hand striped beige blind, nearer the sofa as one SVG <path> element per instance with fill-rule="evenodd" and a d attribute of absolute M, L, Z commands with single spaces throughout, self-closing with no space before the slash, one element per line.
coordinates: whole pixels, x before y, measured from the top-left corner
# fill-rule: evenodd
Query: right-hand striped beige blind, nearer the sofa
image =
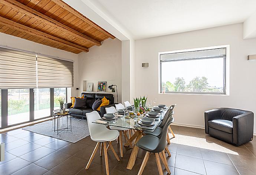
<path fill-rule="evenodd" d="M 73 87 L 73 62 L 37 55 L 38 87 Z"/>

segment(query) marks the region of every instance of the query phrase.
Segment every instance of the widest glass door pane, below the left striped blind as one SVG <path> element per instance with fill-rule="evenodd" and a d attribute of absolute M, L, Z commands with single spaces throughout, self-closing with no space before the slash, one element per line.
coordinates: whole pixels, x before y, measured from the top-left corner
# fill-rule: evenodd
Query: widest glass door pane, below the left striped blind
<path fill-rule="evenodd" d="M 29 89 L 8 89 L 8 125 L 29 121 Z"/>

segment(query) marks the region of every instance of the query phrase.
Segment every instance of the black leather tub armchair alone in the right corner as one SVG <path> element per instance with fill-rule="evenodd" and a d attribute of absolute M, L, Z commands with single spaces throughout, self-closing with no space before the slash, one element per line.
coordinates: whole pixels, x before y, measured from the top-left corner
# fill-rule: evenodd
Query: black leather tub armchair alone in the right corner
<path fill-rule="evenodd" d="M 253 118 L 253 112 L 247 110 L 208 110 L 204 112 L 205 133 L 239 146 L 252 141 Z"/>

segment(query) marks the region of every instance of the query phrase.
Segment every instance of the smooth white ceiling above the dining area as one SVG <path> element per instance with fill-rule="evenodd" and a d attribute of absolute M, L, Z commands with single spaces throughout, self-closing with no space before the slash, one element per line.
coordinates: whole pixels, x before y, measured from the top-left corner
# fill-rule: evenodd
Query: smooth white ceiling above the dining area
<path fill-rule="evenodd" d="M 256 11 L 256 0 L 83 1 L 134 39 L 242 23 Z"/>

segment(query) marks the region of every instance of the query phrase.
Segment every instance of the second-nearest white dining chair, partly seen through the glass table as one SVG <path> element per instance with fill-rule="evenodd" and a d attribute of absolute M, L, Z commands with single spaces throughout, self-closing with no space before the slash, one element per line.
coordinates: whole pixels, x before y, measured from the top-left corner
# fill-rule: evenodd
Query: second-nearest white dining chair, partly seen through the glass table
<path fill-rule="evenodd" d="M 111 106 L 109 108 L 105 108 L 106 109 L 106 113 L 114 113 L 116 112 L 116 109 L 114 106 Z M 122 133 L 124 134 L 124 137 L 126 139 L 126 141 L 129 143 L 130 146 L 131 143 L 129 142 L 129 138 L 127 136 L 127 131 L 129 132 L 129 135 L 131 135 L 131 130 L 128 129 L 128 128 L 121 128 L 121 127 L 118 127 L 118 126 L 109 126 L 110 129 L 112 130 L 116 130 L 119 132 L 119 137 L 118 137 L 118 140 L 119 140 L 119 144 L 120 144 L 120 154 L 121 154 L 121 157 L 124 157 L 124 154 L 123 154 L 123 143 L 122 143 Z"/>

